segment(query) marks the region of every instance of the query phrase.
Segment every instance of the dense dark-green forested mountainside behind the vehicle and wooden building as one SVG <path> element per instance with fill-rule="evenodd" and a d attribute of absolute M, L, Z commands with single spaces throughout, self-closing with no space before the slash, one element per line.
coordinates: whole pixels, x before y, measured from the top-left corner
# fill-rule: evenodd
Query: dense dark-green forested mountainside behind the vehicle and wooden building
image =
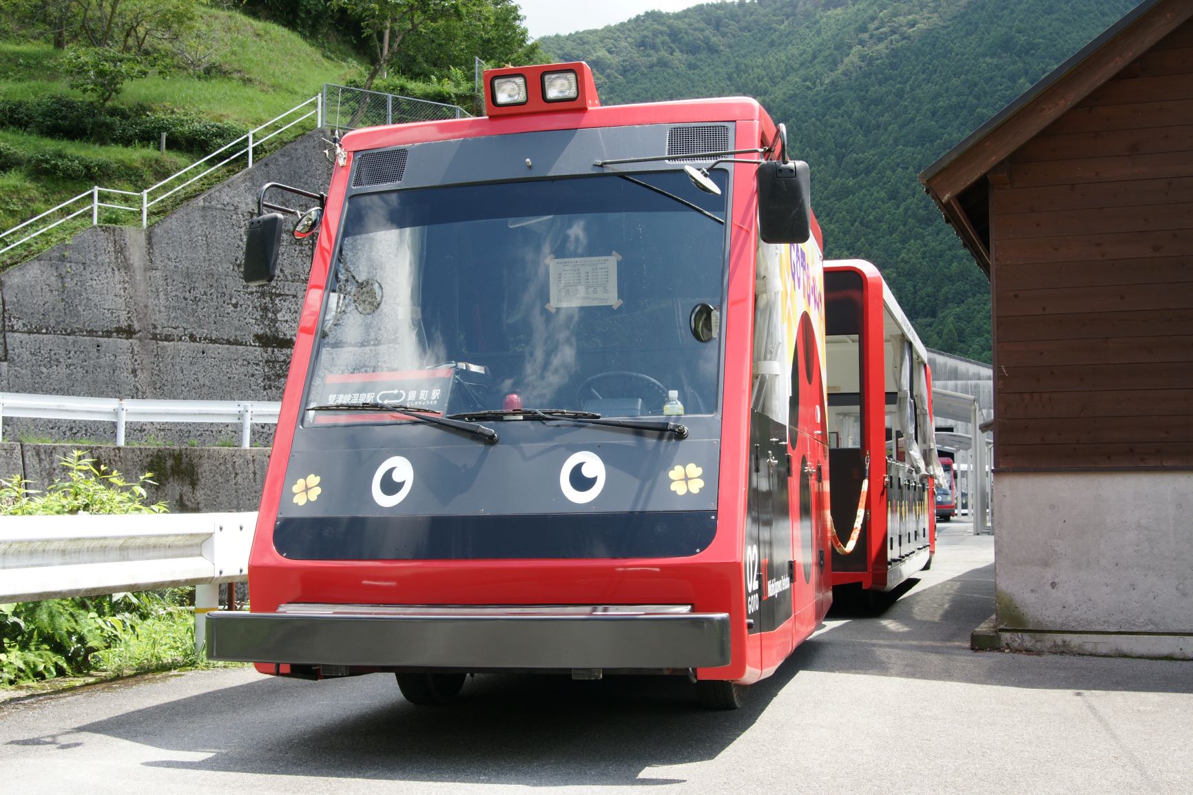
<path fill-rule="evenodd" d="M 538 44 L 605 104 L 758 98 L 811 165 L 826 254 L 878 265 L 927 346 L 989 362 L 989 283 L 916 175 L 1136 1 L 737 0 Z"/>

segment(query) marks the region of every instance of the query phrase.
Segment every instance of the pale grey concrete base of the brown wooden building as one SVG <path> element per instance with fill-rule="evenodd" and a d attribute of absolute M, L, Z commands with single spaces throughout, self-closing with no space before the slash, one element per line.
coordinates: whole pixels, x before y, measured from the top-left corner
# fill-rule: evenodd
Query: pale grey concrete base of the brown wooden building
<path fill-rule="evenodd" d="M 1000 473 L 994 507 L 1005 643 L 1193 655 L 1193 473 Z"/>

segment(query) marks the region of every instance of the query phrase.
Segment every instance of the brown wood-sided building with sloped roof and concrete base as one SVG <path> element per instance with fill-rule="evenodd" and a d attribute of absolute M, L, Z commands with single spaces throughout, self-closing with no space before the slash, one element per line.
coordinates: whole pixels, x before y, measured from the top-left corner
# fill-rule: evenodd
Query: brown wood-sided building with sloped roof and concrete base
<path fill-rule="evenodd" d="M 1193 0 L 1145 0 L 920 179 L 990 277 L 1005 641 L 1193 657 Z"/>

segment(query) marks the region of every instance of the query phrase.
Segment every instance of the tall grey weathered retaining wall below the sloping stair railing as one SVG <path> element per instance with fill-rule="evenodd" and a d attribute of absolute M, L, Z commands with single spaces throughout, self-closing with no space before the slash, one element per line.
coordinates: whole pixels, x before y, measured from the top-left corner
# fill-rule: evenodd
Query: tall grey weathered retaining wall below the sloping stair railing
<path fill-rule="evenodd" d="M 308 134 L 148 229 L 93 227 L 0 273 L 0 392 L 280 400 L 311 242 L 284 238 L 277 281 L 246 286 L 245 230 L 265 183 L 326 190 L 326 146 Z M 6 418 L 4 433 L 111 440 L 115 425 Z M 143 425 L 128 438 L 235 435 Z M 254 440 L 271 438 L 268 426 L 254 427 Z"/>

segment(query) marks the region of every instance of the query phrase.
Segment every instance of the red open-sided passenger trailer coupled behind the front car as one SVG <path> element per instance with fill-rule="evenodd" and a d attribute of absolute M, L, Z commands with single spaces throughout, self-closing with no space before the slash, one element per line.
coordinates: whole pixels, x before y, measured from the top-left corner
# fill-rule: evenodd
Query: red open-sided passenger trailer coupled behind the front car
<path fill-rule="evenodd" d="M 840 594 L 891 591 L 935 554 L 928 357 L 870 263 L 827 261 L 824 301 L 832 580 Z"/>

